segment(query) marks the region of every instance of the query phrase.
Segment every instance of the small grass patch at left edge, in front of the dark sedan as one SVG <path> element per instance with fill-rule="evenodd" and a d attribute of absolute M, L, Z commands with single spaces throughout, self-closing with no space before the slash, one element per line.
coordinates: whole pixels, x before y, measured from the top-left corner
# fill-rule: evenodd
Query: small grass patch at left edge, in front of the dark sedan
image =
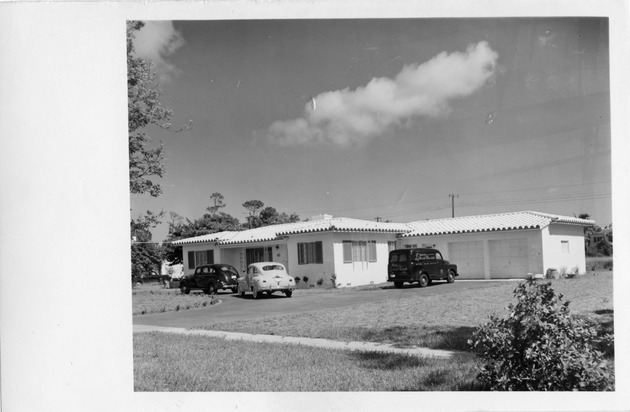
<path fill-rule="evenodd" d="M 157 284 L 140 285 L 132 291 L 134 316 L 202 308 L 218 302 L 217 296 L 209 296 L 197 291 L 184 295 L 179 289 L 163 289 Z"/>

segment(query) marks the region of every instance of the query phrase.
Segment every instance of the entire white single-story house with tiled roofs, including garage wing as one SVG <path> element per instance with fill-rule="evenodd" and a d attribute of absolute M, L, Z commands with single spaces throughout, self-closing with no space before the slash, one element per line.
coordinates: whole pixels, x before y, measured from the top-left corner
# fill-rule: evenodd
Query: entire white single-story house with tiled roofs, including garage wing
<path fill-rule="evenodd" d="M 458 265 L 460 279 L 524 278 L 554 268 L 585 271 L 584 226 L 590 220 L 538 212 L 512 212 L 410 223 L 374 222 L 330 215 L 308 221 L 219 232 L 173 242 L 183 247 L 184 271 L 227 263 L 241 272 L 250 263 L 283 263 L 292 276 L 338 285 L 381 283 L 389 251 L 430 246 Z"/>

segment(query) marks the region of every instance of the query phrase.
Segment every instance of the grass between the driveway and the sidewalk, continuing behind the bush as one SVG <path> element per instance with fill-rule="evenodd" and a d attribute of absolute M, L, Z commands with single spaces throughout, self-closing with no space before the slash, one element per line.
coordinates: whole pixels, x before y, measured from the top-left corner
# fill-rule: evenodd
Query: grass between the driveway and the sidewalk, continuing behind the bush
<path fill-rule="evenodd" d="M 574 314 L 602 323 L 606 321 L 606 315 L 596 311 L 605 313 L 613 310 L 612 274 L 608 272 L 551 282 L 553 288 L 571 302 L 569 307 Z M 514 282 L 497 282 L 487 288 L 448 295 L 417 295 L 237 323 L 213 322 L 199 328 L 467 350 L 467 340 L 474 326 L 485 323 L 491 314 L 500 317 L 507 314 L 505 308 L 514 302 L 515 287 Z"/>

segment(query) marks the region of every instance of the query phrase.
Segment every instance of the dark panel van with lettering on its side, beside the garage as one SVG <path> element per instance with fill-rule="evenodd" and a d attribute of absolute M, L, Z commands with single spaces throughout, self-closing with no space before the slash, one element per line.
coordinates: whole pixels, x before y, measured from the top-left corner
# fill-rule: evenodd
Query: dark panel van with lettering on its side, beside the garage
<path fill-rule="evenodd" d="M 389 252 L 387 281 L 397 288 L 405 282 L 417 282 L 421 288 L 434 280 L 455 282 L 457 265 L 442 258 L 442 253 L 432 248 L 396 249 Z"/>

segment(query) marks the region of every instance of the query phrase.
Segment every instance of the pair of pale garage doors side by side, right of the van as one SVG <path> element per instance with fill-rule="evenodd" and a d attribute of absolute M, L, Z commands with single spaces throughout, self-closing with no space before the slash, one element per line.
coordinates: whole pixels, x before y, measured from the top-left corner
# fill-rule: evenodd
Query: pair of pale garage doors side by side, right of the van
<path fill-rule="evenodd" d="M 449 261 L 457 265 L 461 279 L 484 279 L 483 241 L 448 244 Z M 524 278 L 528 273 L 529 256 L 526 238 L 488 241 L 490 278 Z"/>

